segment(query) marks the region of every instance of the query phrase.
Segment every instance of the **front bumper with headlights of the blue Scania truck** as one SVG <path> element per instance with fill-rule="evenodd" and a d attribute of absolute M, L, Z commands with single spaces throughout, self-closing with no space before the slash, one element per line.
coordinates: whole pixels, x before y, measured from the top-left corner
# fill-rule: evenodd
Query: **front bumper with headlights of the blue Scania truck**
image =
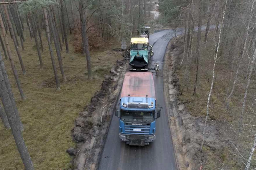
<path fill-rule="evenodd" d="M 121 141 L 126 142 L 129 145 L 148 145 L 150 142 L 156 140 L 156 134 L 154 135 L 125 135 L 119 133 Z"/>

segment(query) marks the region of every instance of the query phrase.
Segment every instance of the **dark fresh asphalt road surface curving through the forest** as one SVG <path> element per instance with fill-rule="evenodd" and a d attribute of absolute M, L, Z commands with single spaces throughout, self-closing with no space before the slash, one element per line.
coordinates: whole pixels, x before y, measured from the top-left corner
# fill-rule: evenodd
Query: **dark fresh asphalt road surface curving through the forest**
<path fill-rule="evenodd" d="M 182 34 L 182 30 L 176 35 Z M 176 170 L 176 161 L 172 145 L 172 137 L 168 124 L 164 99 L 163 59 L 166 46 L 174 37 L 171 30 L 150 34 L 149 43 L 153 46 L 154 56 L 150 68 L 157 62 L 160 75 L 153 74 L 156 101 L 162 107 L 161 117 L 156 120 L 156 140 L 146 146 L 129 146 L 119 139 L 119 121 L 113 114 L 107 140 L 101 155 L 100 170 Z M 150 70 L 154 72 L 154 70 Z M 118 105 L 117 105 L 118 106 Z"/>

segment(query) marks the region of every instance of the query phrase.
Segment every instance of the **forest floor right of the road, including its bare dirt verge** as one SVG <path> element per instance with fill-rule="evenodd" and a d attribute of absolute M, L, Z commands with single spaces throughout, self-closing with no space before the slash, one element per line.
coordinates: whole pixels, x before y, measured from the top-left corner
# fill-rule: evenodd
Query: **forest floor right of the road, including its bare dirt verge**
<path fill-rule="evenodd" d="M 202 33 L 202 36 L 204 34 Z M 228 60 L 220 58 L 216 65 L 216 79 L 210 101 L 210 118 L 208 119 L 205 142 L 201 152 L 203 139 L 206 104 L 212 81 L 212 63 L 214 55 L 214 33 L 209 34 L 209 41 L 202 40 L 199 80 L 196 96 L 193 96 L 196 64 L 192 57 L 190 61 L 190 79 L 188 90 L 185 87 L 186 55 L 184 56 L 184 36 L 170 41 L 164 66 L 164 81 L 167 101 L 173 115 L 170 117 L 172 139 L 180 169 L 244 169 L 252 140 L 255 135 L 255 73 L 252 76 L 250 94 L 248 94 L 247 108 L 244 114 L 244 127 L 238 123 L 242 106 L 245 76 L 239 75 L 239 83 L 226 109 L 225 98 L 230 91 L 234 77 L 234 69 L 227 67 Z M 192 56 L 196 47 L 196 37 L 193 42 Z M 183 65 L 180 66 L 183 60 Z M 183 93 L 180 95 L 180 92 Z M 228 91 L 227 91 L 228 89 Z M 242 130 L 242 133 L 238 133 Z M 255 155 L 255 154 L 254 154 Z M 256 167 L 256 157 L 253 156 L 251 169 Z"/>

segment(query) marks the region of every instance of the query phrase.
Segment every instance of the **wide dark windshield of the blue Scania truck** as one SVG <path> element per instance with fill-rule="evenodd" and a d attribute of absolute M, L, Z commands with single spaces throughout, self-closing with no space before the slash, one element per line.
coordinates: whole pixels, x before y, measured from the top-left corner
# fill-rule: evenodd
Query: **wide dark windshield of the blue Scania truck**
<path fill-rule="evenodd" d="M 124 111 L 121 110 L 121 120 L 133 122 L 153 122 L 153 111 Z"/>

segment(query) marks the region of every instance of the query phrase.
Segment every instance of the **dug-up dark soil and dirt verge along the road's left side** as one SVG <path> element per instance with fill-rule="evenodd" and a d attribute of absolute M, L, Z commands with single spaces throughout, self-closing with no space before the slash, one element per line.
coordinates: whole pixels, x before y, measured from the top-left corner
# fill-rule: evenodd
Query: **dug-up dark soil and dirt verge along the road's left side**
<path fill-rule="evenodd" d="M 124 60 L 117 60 L 111 68 L 110 74 L 105 76 L 101 89 L 91 99 L 91 103 L 84 108 L 76 118 L 72 136 L 76 141 L 76 148 L 69 148 L 67 152 L 74 156 L 72 169 L 94 169 L 99 161 L 108 127 L 112 118 L 115 104 L 122 86 L 127 64 Z"/>

